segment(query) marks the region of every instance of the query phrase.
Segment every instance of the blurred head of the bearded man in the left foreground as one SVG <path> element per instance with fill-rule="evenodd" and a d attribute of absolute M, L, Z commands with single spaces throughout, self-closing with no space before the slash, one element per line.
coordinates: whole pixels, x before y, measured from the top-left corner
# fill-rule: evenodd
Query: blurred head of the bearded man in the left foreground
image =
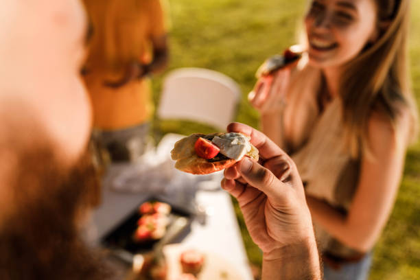
<path fill-rule="evenodd" d="M 78 0 L 0 10 L 0 279 L 104 279 L 78 239 L 95 173 Z"/>

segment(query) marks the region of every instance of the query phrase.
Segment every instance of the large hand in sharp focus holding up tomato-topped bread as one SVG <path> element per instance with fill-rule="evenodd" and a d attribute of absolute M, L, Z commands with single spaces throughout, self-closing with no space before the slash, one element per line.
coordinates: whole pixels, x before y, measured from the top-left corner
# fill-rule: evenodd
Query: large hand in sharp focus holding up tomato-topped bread
<path fill-rule="evenodd" d="M 249 135 L 262 159 L 260 165 L 244 157 L 226 169 L 222 188 L 237 199 L 250 236 L 264 256 L 289 245 L 314 241 L 303 184 L 292 159 L 250 126 L 233 123 L 227 130 Z"/>

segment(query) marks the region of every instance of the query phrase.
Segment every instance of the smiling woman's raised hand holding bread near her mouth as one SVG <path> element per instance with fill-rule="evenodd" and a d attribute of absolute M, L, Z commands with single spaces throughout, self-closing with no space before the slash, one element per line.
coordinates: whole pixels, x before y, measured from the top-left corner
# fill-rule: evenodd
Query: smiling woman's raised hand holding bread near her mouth
<path fill-rule="evenodd" d="M 261 75 L 253 91 L 248 94 L 250 104 L 259 110 L 259 113 L 275 113 L 283 108 L 291 71 L 292 67 L 288 65 L 268 75 Z"/>

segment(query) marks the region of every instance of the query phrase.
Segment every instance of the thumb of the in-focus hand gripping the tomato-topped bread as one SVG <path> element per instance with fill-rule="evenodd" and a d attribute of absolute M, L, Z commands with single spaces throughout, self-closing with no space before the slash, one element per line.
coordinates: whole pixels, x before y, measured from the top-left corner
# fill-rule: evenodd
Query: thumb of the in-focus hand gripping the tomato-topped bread
<path fill-rule="evenodd" d="M 248 185 L 259 189 L 268 197 L 279 197 L 286 187 L 270 170 L 246 157 L 242 159 L 238 170 Z"/>

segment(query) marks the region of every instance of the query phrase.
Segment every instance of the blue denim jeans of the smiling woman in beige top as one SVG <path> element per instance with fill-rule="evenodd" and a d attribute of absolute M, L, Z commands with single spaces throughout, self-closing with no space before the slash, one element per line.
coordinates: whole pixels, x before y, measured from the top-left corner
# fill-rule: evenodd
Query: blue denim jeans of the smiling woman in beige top
<path fill-rule="evenodd" d="M 324 280 L 367 280 L 371 268 L 372 253 L 356 263 L 344 264 L 338 270 L 324 264 Z"/>

